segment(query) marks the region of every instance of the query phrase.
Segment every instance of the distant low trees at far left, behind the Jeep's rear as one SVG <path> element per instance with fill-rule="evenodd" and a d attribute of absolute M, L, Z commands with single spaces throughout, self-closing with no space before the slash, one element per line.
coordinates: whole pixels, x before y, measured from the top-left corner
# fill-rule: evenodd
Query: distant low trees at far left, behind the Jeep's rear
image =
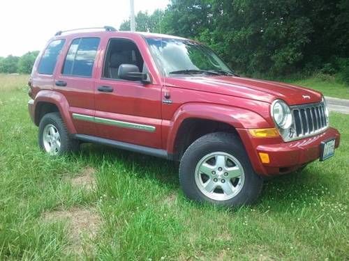
<path fill-rule="evenodd" d="M 22 56 L 0 57 L 0 73 L 31 73 L 38 51 L 27 52 Z"/>

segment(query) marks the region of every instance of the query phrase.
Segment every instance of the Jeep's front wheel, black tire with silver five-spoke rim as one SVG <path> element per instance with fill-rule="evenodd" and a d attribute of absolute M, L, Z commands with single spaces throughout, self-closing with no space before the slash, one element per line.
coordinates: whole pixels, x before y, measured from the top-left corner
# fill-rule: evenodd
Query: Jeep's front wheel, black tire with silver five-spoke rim
<path fill-rule="evenodd" d="M 225 132 L 202 136 L 187 148 L 179 182 L 191 200 L 230 207 L 254 203 L 263 183 L 239 136 Z"/>

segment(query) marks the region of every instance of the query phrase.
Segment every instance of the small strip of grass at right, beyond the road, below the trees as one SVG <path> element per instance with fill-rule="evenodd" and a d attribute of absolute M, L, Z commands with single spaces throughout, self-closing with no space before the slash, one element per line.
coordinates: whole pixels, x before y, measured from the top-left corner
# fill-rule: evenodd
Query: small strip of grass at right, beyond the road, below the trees
<path fill-rule="evenodd" d="M 325 96 L 349 100 L 349 86 L 331 76 L 320 75 L 299 80 L 288 80 L 291 84 L 318 90 Z"/>

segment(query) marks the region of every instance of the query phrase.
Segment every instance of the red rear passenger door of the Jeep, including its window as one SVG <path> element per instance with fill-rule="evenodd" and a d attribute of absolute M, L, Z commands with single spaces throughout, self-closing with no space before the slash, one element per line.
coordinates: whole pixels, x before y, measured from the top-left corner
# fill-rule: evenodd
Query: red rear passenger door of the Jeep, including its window
<path fill-rule="evenodd" d="M 100 38 L 74 38 L 66 49 L 55 90 L 68 101 L 78 134 L 96 135 L 94 124 L 94 63 Z"/>

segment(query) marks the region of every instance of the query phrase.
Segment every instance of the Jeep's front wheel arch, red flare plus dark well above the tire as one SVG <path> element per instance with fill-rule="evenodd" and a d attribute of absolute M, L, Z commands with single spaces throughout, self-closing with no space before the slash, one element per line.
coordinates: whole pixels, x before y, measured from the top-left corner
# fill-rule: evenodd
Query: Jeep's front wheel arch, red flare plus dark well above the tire
<path fill-rule="evenodd" d="M 180 160 L 196 139 L 212 132 L 228 132 L 239 136 L 237 129 L 270 127 L 267 120 L 247 109 L 218 104 L 184 104 L 174 114 L 168 132 L 167 149 L 172 159 Z"/>

